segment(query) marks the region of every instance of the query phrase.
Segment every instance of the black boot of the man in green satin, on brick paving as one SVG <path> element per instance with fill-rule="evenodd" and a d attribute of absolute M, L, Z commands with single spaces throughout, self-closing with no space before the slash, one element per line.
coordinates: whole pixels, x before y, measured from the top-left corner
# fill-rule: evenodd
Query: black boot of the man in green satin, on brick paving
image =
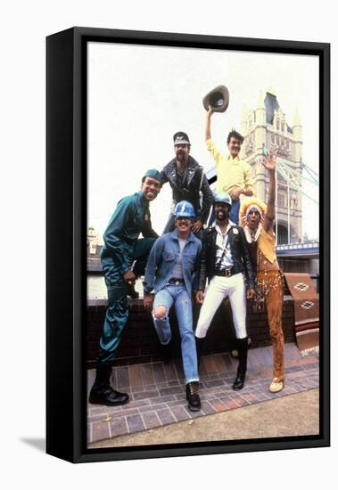
<path fill-rule="evenodd" d="M 96 376 L 93 388 L 90 390 L 89 403 L 101 405 L 127 404 L 129 396 L 111 388 L 111 366 L 99 366 L 96 368 Z"/>

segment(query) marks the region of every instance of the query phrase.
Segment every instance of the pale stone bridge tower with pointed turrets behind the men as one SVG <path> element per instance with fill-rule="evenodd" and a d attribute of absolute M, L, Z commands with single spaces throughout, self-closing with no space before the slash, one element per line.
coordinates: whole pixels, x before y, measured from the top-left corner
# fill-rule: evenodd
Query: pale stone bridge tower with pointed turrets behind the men
<path fill-rule="evenodd" d="M 251 165 L 256 195 L 266 202 L 268 197 L 268 172 L 263 166 L 268 148 L 276 149 L 276 162 L 301 175 L 302 136 L 298 111 L 293 117 L 293 126 L 287 120 L 273 87 L 263 94 L 260 91 L 257 107 L 243 105 L 241 134 L 244 142 L 241 158 Z M 300 184 L 301 186 L 301 184 Z M 290 181 L 277 172 L 276 200 L 277 241 L 295 243 L 301 241 L 302 203 L 301 192 L 290 186 Z"/>

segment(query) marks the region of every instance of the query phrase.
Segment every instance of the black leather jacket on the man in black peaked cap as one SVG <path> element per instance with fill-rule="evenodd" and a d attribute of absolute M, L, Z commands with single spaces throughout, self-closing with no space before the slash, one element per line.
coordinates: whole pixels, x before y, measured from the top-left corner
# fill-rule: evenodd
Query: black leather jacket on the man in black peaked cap
<path fill-rule="evenodd" d="M 205 174 L 202 176 L 203 168 L 189 155 L 184 188 L 180 187 L 177 183 L 176 168 L 176 159 L 170 160 L 161 171 L 162 183 L 169 182 L 174 204 L 177 204 L 180 200 L 188 200 L 194 206 L 196 218 L 200 219 L 202 224 L 206 223 L 213 196 L 207 177 Z M 202 208 L 200 204 L 200 189 L 202 192 Z"/>

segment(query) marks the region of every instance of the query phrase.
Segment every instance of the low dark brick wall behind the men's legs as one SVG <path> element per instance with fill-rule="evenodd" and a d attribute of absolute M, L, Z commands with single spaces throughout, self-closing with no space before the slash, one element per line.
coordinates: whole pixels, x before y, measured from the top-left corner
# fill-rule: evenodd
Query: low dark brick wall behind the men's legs
<path fill-rule="evenodd" d="M 87 305 L 87 367 L 95 366 L 95 357 L 98 353 L 99 339 L 103 325 L 106 302 L 104 300 L 89 300 Z M 195 308 L 194 318 L 197 319 L 198 308 Z M 196 322 L 196 320 L 195 320 Z M 177 328 L 175 312 L 170 312 L 172 327 L 171 348 L 174 357 L 180 356 L 180 339 Z M 284 297 L 283 331 L 285 342 L 294 342 L 293 299 Z M 271 345 L 268 332 L 268 318 L 265 311 L 253 311 L 248 303 L 247 331 L 251 338 L 251 347 Z M 234 325 L 231 308 L 225 300 L 218 308 L 213 322 L 210 325 L 205 341 L 204 354 L 216 354 L 234 348 Z M 149 363 L 160 361 L 161 344 L 153 327 L 151 314 L 144 311 L 142 300 L 130 301 L 128 324 L 123 332 L 119 354 L 116 364 Z"/>

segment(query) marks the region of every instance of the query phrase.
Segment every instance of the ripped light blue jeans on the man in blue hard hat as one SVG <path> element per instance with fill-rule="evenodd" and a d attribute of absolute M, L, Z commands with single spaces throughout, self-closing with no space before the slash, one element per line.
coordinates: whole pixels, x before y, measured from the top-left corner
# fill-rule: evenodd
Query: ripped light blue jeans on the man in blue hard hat
<path fill-rule="evenodd" d="M 185 384 L 198 381 L 196 343 L 193 331 L 192 302 L 184 284 L 168 285 L 160 290 L 153 301 L 153 309 L 165 306 L 166 314 L 158 320 L 153 318 L 153 324 L 162 345 L 169 344 L 171 329 L 169 323 L 169 309 L 175 303 L 175 311 L 179 334 L 181 336 L 181 350 L 183 368 L 185 370 Z"/>

